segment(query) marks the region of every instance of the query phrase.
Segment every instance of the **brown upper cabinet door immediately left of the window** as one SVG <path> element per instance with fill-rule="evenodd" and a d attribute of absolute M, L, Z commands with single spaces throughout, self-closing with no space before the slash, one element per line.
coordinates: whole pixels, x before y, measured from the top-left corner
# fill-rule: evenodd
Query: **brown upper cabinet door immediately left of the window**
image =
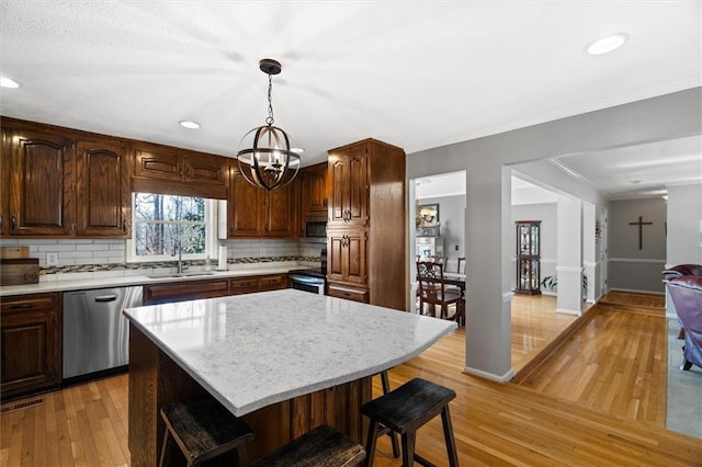
<path fill-rule="evenodd" d="M 79 141 L 77 158 L 77 234 L 127 237 L 132 200 L 126 149 L 97 141 Z"/>

